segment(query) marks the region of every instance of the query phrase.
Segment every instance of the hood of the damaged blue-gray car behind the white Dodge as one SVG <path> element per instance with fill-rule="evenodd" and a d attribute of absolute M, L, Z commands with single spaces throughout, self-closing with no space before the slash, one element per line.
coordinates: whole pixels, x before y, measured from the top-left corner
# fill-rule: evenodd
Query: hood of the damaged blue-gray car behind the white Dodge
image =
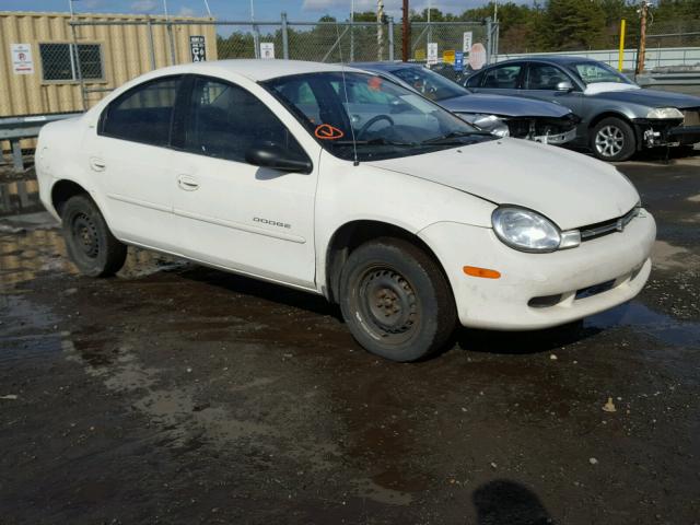
<path fill-rule="evenodd" d="M 517 96 L 489 95 L 486 93 L 472 93 L 456 96 L 438 104 L 453 113 L 483 113 L 489 115 L 502 115 L 505 117 L 563 117 L 571 109 L 560 104 L 545 101 L 533 101 Z"/>

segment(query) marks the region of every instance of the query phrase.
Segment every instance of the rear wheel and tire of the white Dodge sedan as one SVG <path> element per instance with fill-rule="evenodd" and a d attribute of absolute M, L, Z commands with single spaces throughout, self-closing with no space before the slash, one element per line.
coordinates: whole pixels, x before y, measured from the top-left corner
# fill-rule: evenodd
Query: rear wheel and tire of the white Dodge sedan
<path fill-rule="evenodd" d="M 127 247 L 112 234 L 90 197 L 77 195 L 68 199 L 61 220 L 68 256 L 81 273 L 108 277 L 119 271 Z"/>

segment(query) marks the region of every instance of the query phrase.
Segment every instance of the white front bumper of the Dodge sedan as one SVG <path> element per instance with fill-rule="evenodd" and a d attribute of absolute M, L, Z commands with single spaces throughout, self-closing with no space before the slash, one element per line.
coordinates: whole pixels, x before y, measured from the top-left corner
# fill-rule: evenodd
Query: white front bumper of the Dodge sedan
<path fill-rule="evenodd" d="M 489 228 L 436 223 L 419 235 L 443 264 L 462 325 L 527 330 L 562 325 L 634 298 L 651 272 L 656 225 L 642 211 L 623 232 L 551 254 L 509 248 Z M 467 276 L 465 266 L 493 269 L 501 277 Z"/>

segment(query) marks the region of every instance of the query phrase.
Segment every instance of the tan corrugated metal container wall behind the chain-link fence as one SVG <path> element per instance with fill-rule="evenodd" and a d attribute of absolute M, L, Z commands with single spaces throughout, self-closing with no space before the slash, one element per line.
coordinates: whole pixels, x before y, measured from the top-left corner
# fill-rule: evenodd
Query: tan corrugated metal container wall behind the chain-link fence
<path fill-rule="evenodd" d="M 0 116 L 37 115 L 75 112 L 82 109 L 82 93 L 77 81 L 43 80 L 39 44 L 72 43 L 73 36 L 68 13 L 33 13 L 0 11 Z M 79 21 L 145 21 L 133 15 L 77 15 Z M 152 21 L 163 21 L 152 16 Z M 201 21 L 192 18 L 172 18 L 174 24 L 183 21 Z M 152 25 L 155 67 L 170 66 L 170 36 L 164 25 Z M 75 27 L 79 44 L 101 44 L 103 80 L 86 81 L 90 89 L 118 88 L 124 82 L 152 69 L 151 37 L 149 26 L 94 25 Z M 189 36 L 206 37 L 207 58 L 217 58 L 217 32 L 214 25 L 173 25 L 176 63 L 189 62 Z M 34 73 L 15 74 L 12 65 L 12 44 L 30 44 Z M 89 93 L 89 106 L 104 93 Z"/>

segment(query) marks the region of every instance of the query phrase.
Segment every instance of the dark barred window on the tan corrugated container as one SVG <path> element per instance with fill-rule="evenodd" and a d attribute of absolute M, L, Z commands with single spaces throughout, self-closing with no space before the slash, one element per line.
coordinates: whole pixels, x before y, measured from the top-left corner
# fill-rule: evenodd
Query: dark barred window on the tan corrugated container
<path fill-rule="evenodd" d="M 100 44 L 39 44 L 39 56 L 46 81 L 74 82 L 81 75 L 84 80 L 104 78 Z"/>

